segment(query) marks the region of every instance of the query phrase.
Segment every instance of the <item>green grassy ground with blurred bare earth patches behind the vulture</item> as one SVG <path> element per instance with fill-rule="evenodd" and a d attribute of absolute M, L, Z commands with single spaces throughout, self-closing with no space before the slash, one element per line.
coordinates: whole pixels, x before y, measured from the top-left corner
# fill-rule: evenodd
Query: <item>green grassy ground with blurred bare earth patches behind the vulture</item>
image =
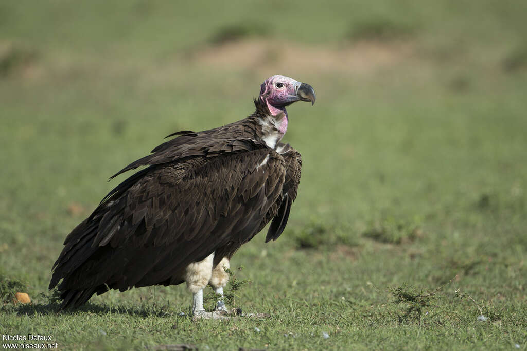
<path fill-rule="evenodd" d="M 0 4 L 0 297 L 33 298 L 1 307 L 2 334 L 61 349 L 527 349 L 526 7 Z M 56 314 L 51 266 L 124 177 L 106 179 L 171 132 L 248 115 L 277 73 L 318 99 L 289 108 L 304 167 L 286 232 L 232 260 L 252 280 L 235 305 L 270 317 L 192 323 L 184 286 Z"/>

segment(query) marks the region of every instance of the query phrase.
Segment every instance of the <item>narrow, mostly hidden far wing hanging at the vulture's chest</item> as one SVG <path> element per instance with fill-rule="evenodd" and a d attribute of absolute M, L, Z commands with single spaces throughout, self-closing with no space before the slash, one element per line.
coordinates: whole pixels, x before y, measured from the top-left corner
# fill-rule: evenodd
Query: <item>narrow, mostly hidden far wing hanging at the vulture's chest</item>
<path fill-rule="evenodd" d="M 278 239 L 282 232 L 284 232 L 287 219 L 289 218 L 291 204 L 296 199 L 298 184 L 300 184 L 300 170 L 302 168 L 302 157 L 300 153 L 294 148 L 289 147 L 289 150 L 281 154 L 281 156 L 286 162 L 286 178 L 284 188 L 282 189 L 282 196 L 278 199 L 278 211 L 267 231 L 266 243 L 271 239 Z"/>

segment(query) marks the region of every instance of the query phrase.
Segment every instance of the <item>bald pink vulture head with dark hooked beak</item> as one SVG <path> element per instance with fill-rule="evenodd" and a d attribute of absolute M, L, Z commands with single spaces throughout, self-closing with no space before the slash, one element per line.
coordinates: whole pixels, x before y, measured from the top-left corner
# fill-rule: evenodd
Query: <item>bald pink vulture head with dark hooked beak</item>
<path fill-rule="evenodd" d="M 260 88 L 260 101 L 267 105 L 273 116 L 284 113 L 285 107 L 296 101 L 310 101 L 313 105 L 315 99 L 313 87 L 286 76 L 271 76 Z"/>

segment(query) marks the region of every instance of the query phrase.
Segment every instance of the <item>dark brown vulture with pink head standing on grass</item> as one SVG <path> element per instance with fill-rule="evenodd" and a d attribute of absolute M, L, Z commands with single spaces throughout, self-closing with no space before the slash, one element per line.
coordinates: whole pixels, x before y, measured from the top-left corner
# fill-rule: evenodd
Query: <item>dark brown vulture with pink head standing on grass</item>
<path fill-rule="evenodd" d="M 296 101 L 315 103 L 306 83 L 268 78 L 247 118 L 202 132 L 181 131 L 113 177 L 144 166 L 106 195 L 66 237 L 49 288 L 61 309 L 109 289 L 177 285 L 193 294 L 192 314 L 227 314 L 229 260 L 271 222 L 266 243 L 284 231 L 300 182 L 301 157 L 281 142 Z M 203 308 L 203 289 L 219 297 Z"/>

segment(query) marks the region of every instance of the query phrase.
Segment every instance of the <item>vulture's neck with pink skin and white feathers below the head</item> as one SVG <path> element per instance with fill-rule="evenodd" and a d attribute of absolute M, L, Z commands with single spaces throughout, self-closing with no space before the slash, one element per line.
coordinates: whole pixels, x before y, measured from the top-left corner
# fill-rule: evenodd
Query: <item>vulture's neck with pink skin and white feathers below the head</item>
<path fill-rule="evenodd" d="M 274 149 L 287 132 L 289 117 L 285 107 L 265 105 L 256 104 L 256 112 L 253 116 L 257 118 L 261 127 L 261 129 L 259 128 L 259 136 L 268 147 Z M 267 108 L 263 108 L 264 106 Z"/>

